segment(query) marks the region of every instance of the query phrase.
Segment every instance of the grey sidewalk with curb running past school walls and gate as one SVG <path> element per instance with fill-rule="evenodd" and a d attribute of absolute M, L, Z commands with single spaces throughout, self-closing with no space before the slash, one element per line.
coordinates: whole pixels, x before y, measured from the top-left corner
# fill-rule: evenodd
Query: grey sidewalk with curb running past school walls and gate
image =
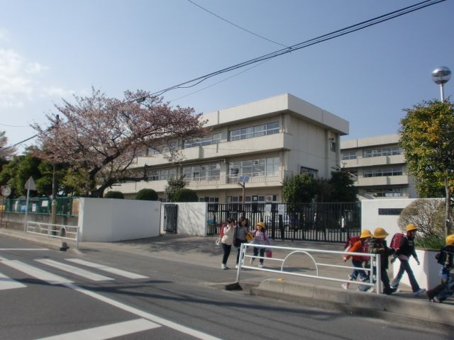
<path fill-rule="evenodd" d="M 0 235 L 26 239 L 27 241 L 48 246 L 52 249 L 60 249 L 62 240 L 48 237 L 39 237 L 32 234 L 25 234 L 22 231 L 13 229 L 0 229 Z M 236 270 L 221 271 L 222 249 L 214 244 L 216 237 L 192 237 L 178 234 L 163 234 L 160 237 L 149 239 L 138 239 L 133 241 L 101 243 L 101 242 L 81 242 L 79 251 L 96 249 L 98 251 L 114 250 L 126 254 L 139 256 L 150 256 L 155 259 L 166 261 L 179 261 L 180 263 L 190 263 L 192 265 L 204 266 L 209 268 L 209 275 L 213 283 L 215 280 L 226 278 L 226 274 L 231 278 L 229 283 L 217 282 L 217 287 L 232 288 L 236 280 Z M 326 249 L 342 251 L 342 244 L 326 244 L 319 242 L 291 242 L 275 240 L 275 246 L 289 246 L 307 249 Z M 74 251 L 75 244 L 68 242 L 70 249 Z M 275 253 L 275 251 L 273 251 Z M 279 253 L 276 253 L 279 256 Z M 229 257 L 228 266 L 234 268 L 236 251 L 232 251 Z M 300 261 L 299 261 L 300 260 Z M 289 270 L 300 270 L 301 261 L 295 264 L 295 268 Z M 338 254 L 319 254 L 317 261 L 323 263 L 349 265 L 343 263 Z M 255 262 L 258 262 L 257 260 Z M 304 262 L 306 265 L 307 261 Z M 349 262 L 348 262 L 349 263 Z M 257 263 L 256 263 L 257 264 Z M 291 263 L 290 263 L 291 264 Z M 297 266 L 298 265 L 298 269 Z M 302 268 L 311 273 L 311 268 Z M 279 268 L 277 263 L 270 259 L 265 259 L 265 268 Z M 227 272 L 227 273 L 226 273 Z M 333 278 L 345 279 L 345 273 L 349 271 L 345 268 L 327 268 L 323 274 Z M 392 278 L 392 273 L 389 273 Z M 357 285 L 351 284 L 349 290 L 343 290 L 341 283 L 317 280 L 311 278 L 287 276 L 284 273 L 270 273 L 265 271 L 253 271 L 250 269 L 241 271 L 240 286 L 250 290 L 251 294 L 266 297 L 299 302 L 310 307 L 328 308 L 330 310 L 341 310 L 363 314 L 365 316 L 380 317 L 382 319 L 393 319 L 394 321 L 409 322 L 414 324 L 440 324 L 442 327 L 454 327 L 454 300 L 451 298 L 443 304 L 429 302 L 425 294 L 414 297 L 411 288 L 406 285 L 399 285 L 399 293 L 393 295 L 378 295 L 375 293 L 357 292 Z"/>

